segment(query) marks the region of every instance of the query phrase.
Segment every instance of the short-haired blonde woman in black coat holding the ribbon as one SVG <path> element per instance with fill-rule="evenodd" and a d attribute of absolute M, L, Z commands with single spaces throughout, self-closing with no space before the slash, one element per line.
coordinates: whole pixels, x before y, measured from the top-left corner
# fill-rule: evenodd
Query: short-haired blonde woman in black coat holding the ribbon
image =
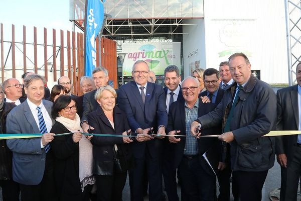
<path fill-rule="evenodd" d="M 130 132 L 126 115 L 115 106 L 116 91 L 100 87 L 95 99 L 100 107 L 89 114 L 88 122 L 96 134 L 118 134 L 124 137 L 91 138 L 93 144 L 93 174 L 96 178 L 97 200 L 121 201 L 127 170 L 132 166 Z"/>

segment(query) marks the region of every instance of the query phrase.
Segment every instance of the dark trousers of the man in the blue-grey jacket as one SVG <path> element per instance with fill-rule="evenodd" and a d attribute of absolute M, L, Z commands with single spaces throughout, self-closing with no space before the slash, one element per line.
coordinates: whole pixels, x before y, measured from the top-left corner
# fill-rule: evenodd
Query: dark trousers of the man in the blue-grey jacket
<path fill-rule="evenodd" d="M 22 201 L 57 201 L 51 152 L 46 154 L 45 171 L 42 181 L 38 185 L 24 185 L 20 183 Z"/>

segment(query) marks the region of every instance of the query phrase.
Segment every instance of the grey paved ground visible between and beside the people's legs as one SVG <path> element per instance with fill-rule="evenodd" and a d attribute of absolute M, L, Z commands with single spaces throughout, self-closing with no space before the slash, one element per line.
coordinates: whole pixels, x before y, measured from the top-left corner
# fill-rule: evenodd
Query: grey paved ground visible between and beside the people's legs
<path fill-rule="evenodd" d="M 262 201 L 269 201 L 269 193 L 274 189 L 280 187 L 280 167 L 277 162 L 273 168 L 268 171 L 267 178 L 265 180 L 263 190 L 262 190 Z M 0 191 L 1 193 L 1 191 Z M 180 188 L 178 188 L 178 193 L 180 194 Z M 129 201 L 129 185 L 128 180 L 126 181 L 125 187 L 123 189 L 123 201 Z M 148 198 L 145 197 L 144 201 L 147 201 Z M 2 194 L 0 197 L 0 201 L 2 201 Z M 171 200 L 172 201 L 172 200 Z"/>

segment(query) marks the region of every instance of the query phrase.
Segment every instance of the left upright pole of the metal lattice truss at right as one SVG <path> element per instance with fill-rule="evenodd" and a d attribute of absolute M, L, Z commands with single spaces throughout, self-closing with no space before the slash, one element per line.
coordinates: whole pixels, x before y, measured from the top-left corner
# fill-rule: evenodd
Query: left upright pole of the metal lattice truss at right
<path fill-rule="evenodd" d="M 290 46 L 290 30 L 289 30 L 289 11 L 288 0 L 284 1 L 285 9 L 285 27 L 286 27 L 286 47 L 287 47 L 287 66 L 288 66 L 288 85 L 292 85 L 292 69 L 291 69 L 291 46 Z"/>

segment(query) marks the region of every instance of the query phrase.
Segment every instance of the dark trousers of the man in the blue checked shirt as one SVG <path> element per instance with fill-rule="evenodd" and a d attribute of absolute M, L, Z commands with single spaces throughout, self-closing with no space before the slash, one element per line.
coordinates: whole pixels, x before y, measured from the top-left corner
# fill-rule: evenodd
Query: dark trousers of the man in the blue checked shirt
<path fill-rule="evenodd" d="M 183 156 L 179 172 L 185 201 L 216 200 L 216 176 L 206 163 L 205 159 L 200 160 L 198 156 Z"/>

